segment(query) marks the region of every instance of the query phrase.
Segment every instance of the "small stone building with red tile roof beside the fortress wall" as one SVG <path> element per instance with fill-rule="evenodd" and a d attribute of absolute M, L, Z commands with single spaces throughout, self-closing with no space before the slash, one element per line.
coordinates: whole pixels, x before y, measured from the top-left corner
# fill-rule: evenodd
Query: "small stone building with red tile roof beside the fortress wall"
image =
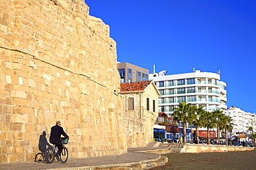
<path fill-rule="evenodd" d="M 154 81 L 121 83 L 123 123 L 127 147 L 145 147 L 154 141 L 154 123 L 158 117 L 158 92 Z"/>

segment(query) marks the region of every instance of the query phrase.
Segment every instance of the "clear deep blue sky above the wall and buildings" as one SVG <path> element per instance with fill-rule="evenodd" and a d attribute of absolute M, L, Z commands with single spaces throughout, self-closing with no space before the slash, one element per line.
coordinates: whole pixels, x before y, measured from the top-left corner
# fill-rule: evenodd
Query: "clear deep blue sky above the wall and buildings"
<path fill-rule="evenodd" d="M 228 107 L 256 113 L 255 0 L 86 0 L 118 61 L 168 74 L 221 70 Z"/>

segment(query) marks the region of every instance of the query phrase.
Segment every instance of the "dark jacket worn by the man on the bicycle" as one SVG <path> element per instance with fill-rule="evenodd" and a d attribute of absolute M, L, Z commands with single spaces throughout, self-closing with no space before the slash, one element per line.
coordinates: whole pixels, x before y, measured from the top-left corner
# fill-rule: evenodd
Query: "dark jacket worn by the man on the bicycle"
<path fill-rule="evenodd" d="M 58 125 L 53 126 L 51 128 L 50 142 L 53 144 L 62 143 L 62 140 L 60 140 L 61 135 L 63 135 L 65 138 L 68 138 L 62 127 L 59 127 Z"/>

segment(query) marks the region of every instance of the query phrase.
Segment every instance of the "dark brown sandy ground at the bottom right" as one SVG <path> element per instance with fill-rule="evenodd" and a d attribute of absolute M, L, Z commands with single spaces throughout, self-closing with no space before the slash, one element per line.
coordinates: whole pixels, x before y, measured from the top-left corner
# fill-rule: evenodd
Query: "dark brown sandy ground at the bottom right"
<path fill-rule="evenodd" d="M 214 153 L 168 153 L 165 166 L 154 169 L 256 169 L 256 149 Z"/>

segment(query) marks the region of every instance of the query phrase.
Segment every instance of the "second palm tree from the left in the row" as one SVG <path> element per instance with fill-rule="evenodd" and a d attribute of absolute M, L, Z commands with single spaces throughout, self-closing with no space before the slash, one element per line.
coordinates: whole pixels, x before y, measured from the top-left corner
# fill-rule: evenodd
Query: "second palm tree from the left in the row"
<path fill-rule="evenodd" d="M 191 109 L 192 115 L 192 125 L 196 127 L 196 141 L 199 142 L 199 127 L 203 127 L 203 121 L 201 117 L 205 113 L 205 109 L 203 107 L 193 106 Z"/>

